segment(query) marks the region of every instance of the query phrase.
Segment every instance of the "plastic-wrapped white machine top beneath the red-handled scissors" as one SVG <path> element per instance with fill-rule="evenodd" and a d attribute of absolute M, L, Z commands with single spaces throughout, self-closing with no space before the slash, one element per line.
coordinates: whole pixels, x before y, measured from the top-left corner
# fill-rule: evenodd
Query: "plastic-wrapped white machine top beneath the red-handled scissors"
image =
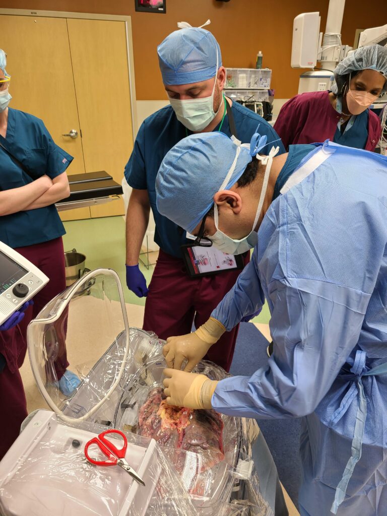
<path fill-rule="evenodd" d="M 1 463 L 0 513 L 197 515 L 178 475 L 154 440 L 127 435 L 125 458 L 143 478 L 145 487 L 119 466 L 89 463 L 85 444 L 104 430 L 106 427 L 95 423 L 63 423 L 53 412 L 38 411 L 19 437 L 24 444 L 21 456 L 13 456 L 11 448 Z M 90 454 L 106 459 L 97 450 L 91 447 Z"/>

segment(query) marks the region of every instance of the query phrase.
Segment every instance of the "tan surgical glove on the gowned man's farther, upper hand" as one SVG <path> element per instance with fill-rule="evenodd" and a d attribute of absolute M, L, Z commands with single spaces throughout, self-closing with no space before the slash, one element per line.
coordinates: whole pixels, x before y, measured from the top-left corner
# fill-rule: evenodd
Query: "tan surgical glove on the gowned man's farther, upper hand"
<path fill-rule="evenodd" d="M 221 322 L 210 317 L 193 333 L 168 337 L 167 344 L 163 347 L 167 367 L 181 369 L 184 360 L 187 360 L 184 370 L 190 372 L 225 331 Z"/>

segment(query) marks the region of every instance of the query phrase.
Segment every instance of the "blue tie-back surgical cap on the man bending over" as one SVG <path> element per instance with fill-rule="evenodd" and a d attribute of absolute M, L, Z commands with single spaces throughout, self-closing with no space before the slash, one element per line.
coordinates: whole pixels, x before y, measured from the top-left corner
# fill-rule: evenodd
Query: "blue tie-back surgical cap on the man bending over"
<path fill-rule="evenodd" d="M 235 169 L 223 189 L 233 186 L 252 156 L 266 145 L 267 137 L 255 133 L 250 147 L 241 146 L 223 133 L 193 134 L 166 154 L 156 178 L 156 205 L 160 214 L 186 231 L 193 231 L 209 208 L 230 171 L 237 149 Z"/>

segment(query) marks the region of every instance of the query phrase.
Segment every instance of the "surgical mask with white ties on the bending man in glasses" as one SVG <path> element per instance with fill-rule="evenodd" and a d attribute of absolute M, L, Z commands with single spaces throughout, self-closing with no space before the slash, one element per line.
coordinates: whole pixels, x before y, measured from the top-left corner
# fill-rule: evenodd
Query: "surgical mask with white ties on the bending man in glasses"
<path fill-rule="evenodd" d="M 279 147 L 276 147 L 276 148 L 272 147 L 268 156 L 260 156 L 259 154 L 257 154 L 255 156 L 256 159 L 260 159 L 262 161 L 263 165 L 266 165 L 266 170 L 265 170 L 265 175 L 264 175 L 264 179 L 263 179 L 261 195 L 260 195 L 260 199 L 258 202 L 258 207 L 256 209 L 253 227 L 247 236 L 245 236 L 244 238 L 241 238 L 240 240 L 237 240 L 235 238 L 231 238 L 230 236 L 226 235 L 225 233 L 223 233 L 222 231 L 219 230 L 218 206 L 215 203 L 214 222 L 215 222 L 215 227 L 216 227 L 217 231 L 216 231 L 216 233 L 214 233 L 214 235 L 208 236 L 207 238 L 212 240 L 213 245 L 220 251 L 223 251 L 224 253 L 228 253 L 228 254 L 243 254 L 244 252 L 248 251 L 249 249 L 252 249 L 257 244 L 258 235 L 257 235 L 256 231 L 254 231 L 254 230 L 255 230 L 256 224 L 258 223 L 258 220 L 260 218 L 262 206 L 263 206 L 263 203 L 265 200 L 267 185 L 269 182 L 270 169 L 271 169 L 271 165 L 273 163 L 273 157 L 278 153 L 279 150 L 280 150 Z M 218 191 L 223 190 L 224 187 L 227 186 L 228 182 L 230 181 L 230 178 L 231 178 L 231 176 L 234 172 L 235 166 L 236 166 L 236 162 L 237 162 L 239 153 L 240 153 L 240 147 L 237 148 L 234 162 L 231 165 L 229 173 L 227 174 L 225 180 L 223 181 L 223 183 Z"/>

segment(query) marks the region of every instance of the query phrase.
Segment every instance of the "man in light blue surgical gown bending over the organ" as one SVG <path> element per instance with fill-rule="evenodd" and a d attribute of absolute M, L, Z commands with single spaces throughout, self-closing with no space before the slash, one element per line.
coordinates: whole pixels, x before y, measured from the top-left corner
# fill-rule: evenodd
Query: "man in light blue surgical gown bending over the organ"
<path fill-rule="evenodd" d="M 328 140 L 263 156 L 264 143 L 259 135 L 247 147 L 216 133 L 193 135 L 160 167 L 160 213 L 202 245 L 254 246 L 211 318 L 167 340 L 167 402 L 258 419 L 302 416 L 301 515 L 382 516 L 387 156 Z M 265 299 L 273 340 L 266 368 L 219 382 L 180 370 L 184 360 L 191 370 Z"/>

